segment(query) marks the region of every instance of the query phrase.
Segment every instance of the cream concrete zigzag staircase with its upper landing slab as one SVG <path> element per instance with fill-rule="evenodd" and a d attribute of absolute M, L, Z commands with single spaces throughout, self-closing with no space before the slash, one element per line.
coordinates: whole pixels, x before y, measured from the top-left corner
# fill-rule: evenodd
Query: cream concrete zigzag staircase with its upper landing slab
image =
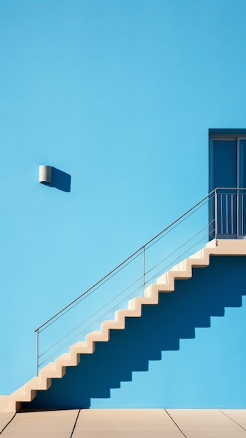
<path fill-rule="evenodd" d="M 101 330 L 87 334 L 86 341 L 76 342 L 69 348 L 69 353 L 60 355 L 54 362 L 50 362 L 43 367 L 39 376 L 25 383 L 24 386 L 11 395 L 0 396 L 0 411 L 19 411 L 22 402 L 31 402 L 36 397 L 36 391 L 50 388 L 52 379 L 61 379 L 66 373 L 67 367 L 76 367 L 80 360 L 83 360 L 81 355 L 93 353 L 96 342 L 109 341 L 111 329 L 123 330 L 125 328 L 125 318 L 141 317 L 143 304 L 158 304 L 159 292 L 173 292 L 175 290 L 175 279 L 185 280 L 191 278 L 193 268 L 207 267 L 210 264 L 211 255 L 246 255 L 246 240 L 213 240 L 196 254 L 179 262 L 170 271 L 161 275 L 156 283 L 149 285 L 144 290 L 144 297 L 131 299 L 128 302 L 128 309 L 120 309 L 115 312 L 114 320 L 104 320 L 101 324 Z"/>

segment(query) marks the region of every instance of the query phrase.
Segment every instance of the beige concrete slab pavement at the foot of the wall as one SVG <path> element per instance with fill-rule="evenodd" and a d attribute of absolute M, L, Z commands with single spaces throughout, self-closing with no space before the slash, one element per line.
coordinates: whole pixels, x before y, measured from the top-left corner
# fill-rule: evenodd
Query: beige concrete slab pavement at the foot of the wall
<path fill-rule="evenodd" d="M 0 413 L 3 438 L 246 438 L 246 409 L 74 409 Z"/>

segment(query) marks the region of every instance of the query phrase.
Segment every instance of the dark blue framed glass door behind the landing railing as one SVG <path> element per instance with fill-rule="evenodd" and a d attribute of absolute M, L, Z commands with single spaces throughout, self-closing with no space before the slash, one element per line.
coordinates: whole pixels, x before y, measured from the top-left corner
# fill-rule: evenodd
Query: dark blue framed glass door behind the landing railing
<path fill-rule="evenodd" d="M 246 236 L 246 129 L 210 129 L 210 240 Z"/>

